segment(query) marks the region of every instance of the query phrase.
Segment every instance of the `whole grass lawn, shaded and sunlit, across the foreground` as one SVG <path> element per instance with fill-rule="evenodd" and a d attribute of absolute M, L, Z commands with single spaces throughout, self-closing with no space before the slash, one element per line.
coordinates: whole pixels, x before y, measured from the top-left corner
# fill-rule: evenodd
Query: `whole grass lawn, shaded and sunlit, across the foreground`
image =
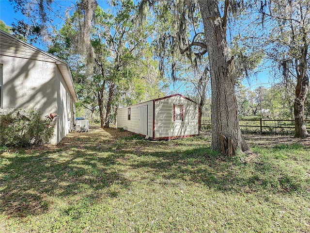
<path fill-rule="evenodd" d="M 310 232 L 309 140 L 248 143 L 250 164 L 116 129 L 2 148 L 0 232 Z"/>

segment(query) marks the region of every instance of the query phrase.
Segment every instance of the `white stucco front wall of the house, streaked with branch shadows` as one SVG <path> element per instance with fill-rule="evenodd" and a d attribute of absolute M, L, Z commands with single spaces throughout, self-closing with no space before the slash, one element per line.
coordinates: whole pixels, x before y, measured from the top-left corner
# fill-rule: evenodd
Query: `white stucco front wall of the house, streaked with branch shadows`
<path fill-rule="evenodd" d="M 3 64 L 3 109 L 56 112 L 55 64 L 2 55 L 0 63 Z"/>

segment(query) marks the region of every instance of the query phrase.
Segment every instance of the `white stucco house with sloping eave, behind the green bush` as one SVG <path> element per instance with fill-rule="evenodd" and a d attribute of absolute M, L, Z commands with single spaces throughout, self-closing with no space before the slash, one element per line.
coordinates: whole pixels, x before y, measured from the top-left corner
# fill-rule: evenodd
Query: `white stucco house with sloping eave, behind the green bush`
<path fill-rule="evenodd" d="M 57 113 L 51 139 L 56 145 L 75 123 L 77 101 L 67 63 L 0 30 L 0 111 Z"/>

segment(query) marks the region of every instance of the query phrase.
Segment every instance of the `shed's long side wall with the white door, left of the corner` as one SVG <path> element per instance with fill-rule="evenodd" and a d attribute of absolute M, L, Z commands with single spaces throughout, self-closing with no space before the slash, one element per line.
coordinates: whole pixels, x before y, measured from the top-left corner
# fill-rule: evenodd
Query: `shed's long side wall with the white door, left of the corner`
<path fill-rule="evenodd" d="M 117 110 L 117 127 L 124 130 L 139 133 L 139 107 L 147 105 L 148 107 L 148 122 L 147 135 L 153 136 L 153 100 L 144 103 L 131 105 Z M 130 120 L 128 120 L 128 108 L 131 109 Z"/>

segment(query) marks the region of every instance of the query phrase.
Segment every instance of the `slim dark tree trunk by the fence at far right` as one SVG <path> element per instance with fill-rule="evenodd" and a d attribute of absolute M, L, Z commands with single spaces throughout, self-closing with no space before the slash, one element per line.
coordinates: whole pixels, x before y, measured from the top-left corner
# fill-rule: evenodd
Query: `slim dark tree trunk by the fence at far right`
<path fill-rule="evenodd" d="M 304 103 L 309 89 L 309 77 L 307 75 L 307 52 L 308 47 L 301 51 L 299 66 L 295 63 L 297 72 L 297 85 L 295 89 L 294 118 L 295 118 L 295 137 L 305 138 L 309 134 L 304 120 Z"/>

